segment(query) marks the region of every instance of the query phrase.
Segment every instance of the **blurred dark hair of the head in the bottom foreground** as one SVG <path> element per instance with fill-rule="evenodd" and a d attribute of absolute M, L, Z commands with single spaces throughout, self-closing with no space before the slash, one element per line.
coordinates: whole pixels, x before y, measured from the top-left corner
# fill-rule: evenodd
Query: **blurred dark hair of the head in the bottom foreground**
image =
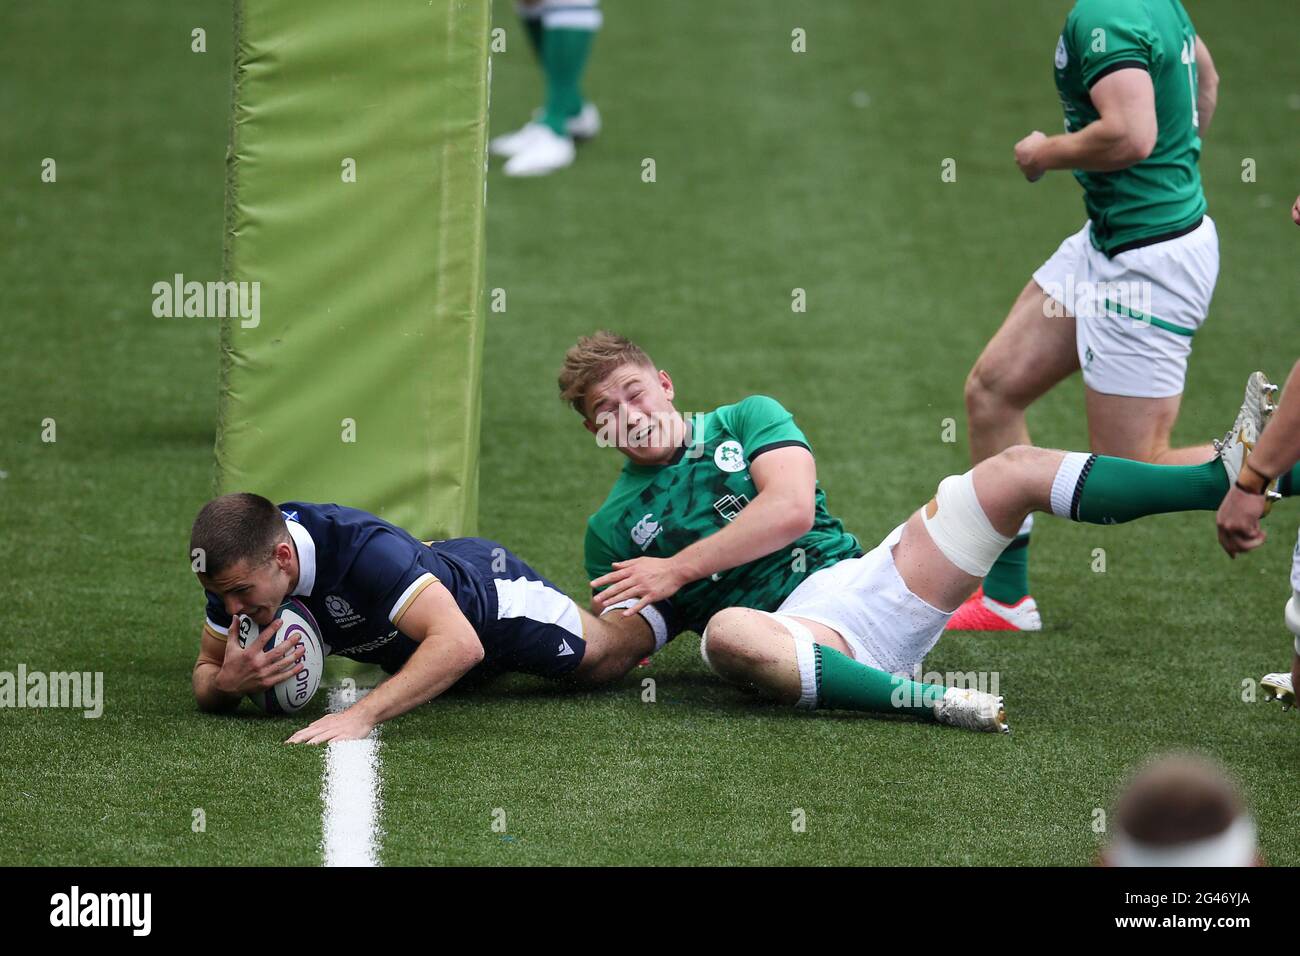
<path fill-rule="evenodd" d="M 1243 809 L 1222 770 L 1197 757 L 1174 756 L 1134 778 L 1115 806 L 1115 826 L 1148 847 L 1174 847 L 1223 832 Z"/>

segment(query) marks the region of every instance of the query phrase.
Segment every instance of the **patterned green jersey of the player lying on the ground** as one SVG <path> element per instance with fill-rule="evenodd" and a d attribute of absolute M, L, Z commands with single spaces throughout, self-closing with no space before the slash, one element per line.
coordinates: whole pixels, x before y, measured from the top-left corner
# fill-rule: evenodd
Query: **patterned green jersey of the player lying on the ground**
<path fill-rule="evenodd" d="M 615 561 L 672 557 L 725 528 L 758 493 L 750 463 L 788 445 L 811 451 L 794 416 L 767 395 L 696 415 L 690 446 L 679 449 L 671 463 L 628 460 L 623 466 L 608 498 L 586 524 L 588 575 L 608 574 Z M 692 581 L 656 606 L 671 632 L 699 632 L 723 607 L 776 610 L 810 574 L 859 554 L 858 540 L 826 510 L 826 492 L 818 483 L 815 518 L 806 535 L 758 561 Z"/>

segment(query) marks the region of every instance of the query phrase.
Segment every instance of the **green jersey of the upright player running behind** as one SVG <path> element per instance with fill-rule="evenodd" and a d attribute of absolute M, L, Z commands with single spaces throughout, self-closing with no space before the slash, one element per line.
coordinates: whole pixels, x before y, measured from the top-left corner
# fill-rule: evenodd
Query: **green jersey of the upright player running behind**
<path fill-rule="evenodd" d="M 1150 156 L 1113 173 L 1074 170 L 1092 220 L 1092 245 L 1108 256 L 1200 222 L 1205 194 L 1196 166 L 1196 30 L 1178 0 L 1078 0 L 1056 51 L 1065 127 L 1098 118 L 1088 91 L 1118 69 L 1150 74 L 1158 133 Z"/>

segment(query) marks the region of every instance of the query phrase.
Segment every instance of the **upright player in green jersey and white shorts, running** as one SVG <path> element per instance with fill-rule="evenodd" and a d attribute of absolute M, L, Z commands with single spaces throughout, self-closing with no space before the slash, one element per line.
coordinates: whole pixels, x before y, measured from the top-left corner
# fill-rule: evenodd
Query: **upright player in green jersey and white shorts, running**
<path fill-rule="evenodd" d="M 1015 144 L 1034 182 L 1069 169 L 1088 220 L 1032 276 L 966 381 L 971 460 L 1030 441 L 1026 408 L 1083 371 L 1093 451 L 1160 464 L 1210 460 L 1171 449 L 1192 350 L 1218 278 L 1218 234 L 1197 160 L 1218 75 L 1178 0 L 1078 0 L 1056 44 L 1065 133 Z M 1037 631 L 1032 518 L 949 622 Z"/>

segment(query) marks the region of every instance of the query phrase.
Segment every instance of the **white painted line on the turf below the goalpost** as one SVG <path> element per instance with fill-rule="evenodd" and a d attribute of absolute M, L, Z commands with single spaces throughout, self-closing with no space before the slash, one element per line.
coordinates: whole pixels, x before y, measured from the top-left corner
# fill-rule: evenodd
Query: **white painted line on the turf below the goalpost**
<path fill-rule="evenodd" d="M 356 700 L 367 691 L 356 691 Z M 352 697 L 330 688 L 330 713 Z M 326 866 L 380 865 L 380 730 L 364 740 L 335 740 L 325 747 L 321 784 L 321 849 Z"/>

